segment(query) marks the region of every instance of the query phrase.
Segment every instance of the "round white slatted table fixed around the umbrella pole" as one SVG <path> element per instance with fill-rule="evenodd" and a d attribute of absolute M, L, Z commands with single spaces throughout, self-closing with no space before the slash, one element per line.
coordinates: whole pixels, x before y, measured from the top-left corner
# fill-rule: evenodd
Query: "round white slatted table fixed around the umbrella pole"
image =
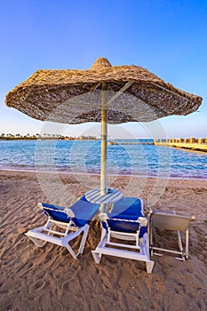
<path fill-rule="evenodd" d="M 108 204 L 120 200 L 122 193 L 117 189 L 107 189 L 107 195 L 100 195 L 100 188 L 95 188 L 88 191 L 85 197 L 92 203 Z"/>

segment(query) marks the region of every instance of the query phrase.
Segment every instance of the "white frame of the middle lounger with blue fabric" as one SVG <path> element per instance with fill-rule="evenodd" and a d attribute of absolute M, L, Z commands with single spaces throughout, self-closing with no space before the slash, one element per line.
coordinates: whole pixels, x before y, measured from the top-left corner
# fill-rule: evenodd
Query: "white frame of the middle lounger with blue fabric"
<path fill-rule="evenodd" d="M 135 244 L 111 242 L 111 237 L 124 241 L 134 241 Z M 116 248 L 113 248 L 113 246 Z M 131 251 L 126 251 L 124 248 L 131 249 Z M 154 267 L 154 261 L 149 259 L 148 235 L 145 233 L 142 238 L 139 238 L 139 231 L 133 234 L 102 228 L 100 243 L 95 251 L 92 251 L 93 259 L 97 264 L 100 264 L 102 255 L 145 261 L 147 273 L 151 273 Z"/>

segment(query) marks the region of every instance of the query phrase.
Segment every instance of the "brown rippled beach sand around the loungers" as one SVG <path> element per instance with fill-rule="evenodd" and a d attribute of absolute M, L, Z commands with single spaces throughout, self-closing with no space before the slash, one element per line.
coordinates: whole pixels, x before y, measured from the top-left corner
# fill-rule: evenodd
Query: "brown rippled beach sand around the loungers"
<path fill-rule="evenodd" d="M 150 275 L 144 263 L 130 259 L 104 256 L 100 265 L 94 263 L 91 251 L 100 240 L 97 221 L 77 261 L 51 243 L 37 248 L 24 235 L 45 222 L 38 202 L 68 206 L 99 185 L 97 176 L 44 173 L 37 179 L 35 172 L 1 171 L 0 178 L 2 311 L 207 310 L 206 180 L 109 178 L 110 187 L 118 187 L 123 195 L 141 197 L 145 212 L 154 204 L 156 209 L 195 214 L 189 259 L 154 256 Z M 171 243 L 171 236 L 162 238 Z"/>

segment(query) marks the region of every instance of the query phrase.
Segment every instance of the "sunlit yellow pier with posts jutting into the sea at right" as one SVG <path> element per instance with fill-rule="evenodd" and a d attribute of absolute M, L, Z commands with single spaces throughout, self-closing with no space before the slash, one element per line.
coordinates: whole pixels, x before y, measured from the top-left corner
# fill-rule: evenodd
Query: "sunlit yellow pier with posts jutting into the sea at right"
<path fill-rule="evenodd" d="M 167 146 L 174 148 L 187 148 L 191 150 L 207 151 L 207 137 L 205 139 L 171 139 L 171 140 L 154 140 L 155 146 Z"/>

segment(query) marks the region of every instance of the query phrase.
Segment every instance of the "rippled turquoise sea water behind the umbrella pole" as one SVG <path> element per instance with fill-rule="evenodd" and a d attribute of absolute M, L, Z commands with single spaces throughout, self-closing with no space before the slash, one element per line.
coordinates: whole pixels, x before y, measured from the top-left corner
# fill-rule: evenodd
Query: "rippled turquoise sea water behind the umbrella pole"
<path fill-rule="evenodd" d="M 152 140 L 139 140 L 147 141 Z M 99 174 L 100 140 L 1 140 L 0 169 Z M 207 153 L 143 144 L 108 145 L 107 171 L 143 177 L 207 179 Z"/>

